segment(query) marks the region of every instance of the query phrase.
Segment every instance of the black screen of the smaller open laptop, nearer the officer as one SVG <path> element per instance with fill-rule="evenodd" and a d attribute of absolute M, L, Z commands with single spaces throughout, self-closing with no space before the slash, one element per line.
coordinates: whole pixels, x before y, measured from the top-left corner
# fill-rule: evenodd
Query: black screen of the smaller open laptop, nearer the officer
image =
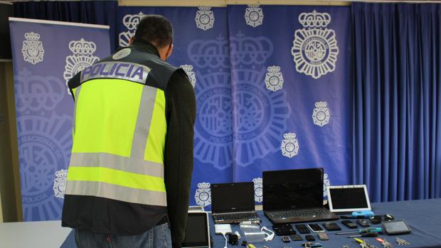
<path fill-rule="evenodd" d="M 219 183 L 211 185 L 211 211 L 254 211 L 253 183 Z"/>

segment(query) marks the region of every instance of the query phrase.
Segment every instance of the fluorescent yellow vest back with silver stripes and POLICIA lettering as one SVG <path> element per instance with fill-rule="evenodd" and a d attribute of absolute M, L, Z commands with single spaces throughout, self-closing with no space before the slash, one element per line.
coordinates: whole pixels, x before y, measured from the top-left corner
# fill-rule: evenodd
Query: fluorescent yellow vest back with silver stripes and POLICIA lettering
<path fill-rule="evenodd" d="M 122 76 L 90 77 L 72 91 L 73 147 L 65 193 L 166 206 L 164 91 L 127 80 L 129 68 L 94 65 L 99 66 L 97 73 L 114 70 Z"/>

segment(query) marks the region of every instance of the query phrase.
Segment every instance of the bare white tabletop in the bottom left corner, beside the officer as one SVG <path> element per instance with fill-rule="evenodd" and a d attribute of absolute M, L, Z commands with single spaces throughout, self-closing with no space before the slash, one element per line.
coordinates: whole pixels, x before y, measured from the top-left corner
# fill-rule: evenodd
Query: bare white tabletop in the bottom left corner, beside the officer
<path fill-rule="evenodd" d="M 1 248 L 60 247 L 70 232 L 60 220 L 0 223 Z"/>

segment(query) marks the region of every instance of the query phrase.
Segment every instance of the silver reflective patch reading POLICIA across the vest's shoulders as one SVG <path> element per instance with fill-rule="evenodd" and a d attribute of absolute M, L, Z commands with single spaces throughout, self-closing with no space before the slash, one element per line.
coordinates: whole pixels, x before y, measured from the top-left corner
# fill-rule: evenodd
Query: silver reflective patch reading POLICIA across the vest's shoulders
<path fill-rule="evenodd" d="M 119 78 L 144 84 L 150 68 L 137 63 L 110 61 L 96 63 L 81 72 L 81 82 L 96 78 Z"/>

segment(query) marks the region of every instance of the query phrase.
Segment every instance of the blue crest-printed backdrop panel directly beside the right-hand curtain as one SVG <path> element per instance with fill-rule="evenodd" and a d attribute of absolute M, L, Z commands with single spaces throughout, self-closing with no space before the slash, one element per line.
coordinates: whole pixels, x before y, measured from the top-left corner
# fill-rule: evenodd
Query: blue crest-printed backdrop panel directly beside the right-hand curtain
<path fill-rule="evenodd" d="M 350 182 L 350 20 L 346 6 L 228 6 L 233 180 L 253 180 L 258 203 L 262 171 Z"/>

